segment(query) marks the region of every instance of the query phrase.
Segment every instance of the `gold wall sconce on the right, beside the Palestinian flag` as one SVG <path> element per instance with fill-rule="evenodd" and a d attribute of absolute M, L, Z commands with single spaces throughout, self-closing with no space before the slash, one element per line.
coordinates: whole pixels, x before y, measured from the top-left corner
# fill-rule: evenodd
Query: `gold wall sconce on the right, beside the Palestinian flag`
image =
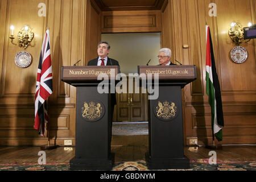
<path fill-rule="evenodd" d="M 248 27 L 250 27 L 251 25 L 252 23 L 249 22 Z M 241 23 L 238 23 L 238 22 L 231 23 L 231 28 L 229 29 L 229 37 L 233 41 L 233 43 L 236 44 L 236 46 L 239 46 L 242 43 L 242 41 L 244 40 L 244 32 L 243 32 L 243 27 Z"/>

